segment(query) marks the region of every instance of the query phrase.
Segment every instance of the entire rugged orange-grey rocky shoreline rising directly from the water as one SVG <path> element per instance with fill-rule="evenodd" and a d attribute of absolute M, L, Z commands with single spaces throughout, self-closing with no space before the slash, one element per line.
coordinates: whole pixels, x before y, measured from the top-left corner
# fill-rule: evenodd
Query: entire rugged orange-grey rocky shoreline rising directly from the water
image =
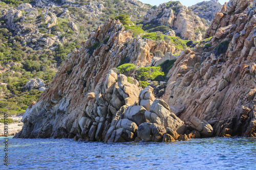
<path fill-rule="evenodd" d="M 125 142 L 256 136 L 255 4 L 226 3 L 206 31 L 212 38 L 183 51 L 168 70 L 160 99 L 151 86 L 140 87 L 115 67 L 125 58 L 151 66 L 152 52 L 166 55 L 173 47 L 133 38 L 119 20 L 109 19 L 69 54 L 26 110 L 15 137 Z"/>

